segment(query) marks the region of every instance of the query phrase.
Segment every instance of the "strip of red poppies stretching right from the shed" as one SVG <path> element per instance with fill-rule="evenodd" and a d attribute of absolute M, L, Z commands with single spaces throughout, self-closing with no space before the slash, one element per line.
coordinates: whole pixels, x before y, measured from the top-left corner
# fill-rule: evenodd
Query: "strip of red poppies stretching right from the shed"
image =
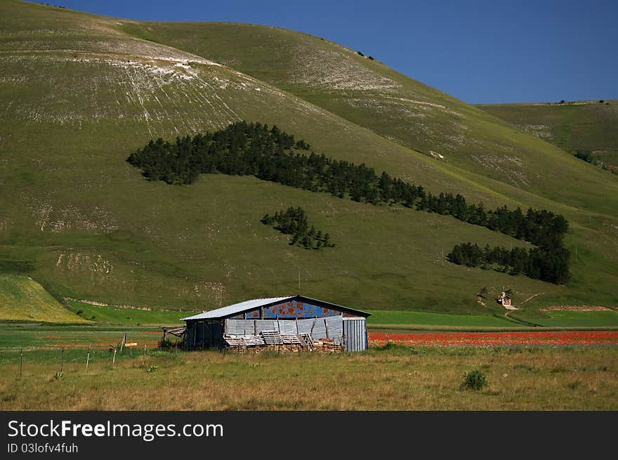
<path fill-rule="evenodd" d="M 369 332 L 369 345 L 407 346 L 618 346 L 618 331 Z"/>

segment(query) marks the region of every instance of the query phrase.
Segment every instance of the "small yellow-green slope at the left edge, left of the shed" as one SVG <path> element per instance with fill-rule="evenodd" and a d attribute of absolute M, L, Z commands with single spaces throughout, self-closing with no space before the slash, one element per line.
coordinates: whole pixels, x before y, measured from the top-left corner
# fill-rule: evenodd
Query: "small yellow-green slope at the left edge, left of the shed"
<path fill-rule="evenodd" d="M 86 322 L 61 305 L 41 284 L 22 275 L 0 274 L 0 320 Z"/>

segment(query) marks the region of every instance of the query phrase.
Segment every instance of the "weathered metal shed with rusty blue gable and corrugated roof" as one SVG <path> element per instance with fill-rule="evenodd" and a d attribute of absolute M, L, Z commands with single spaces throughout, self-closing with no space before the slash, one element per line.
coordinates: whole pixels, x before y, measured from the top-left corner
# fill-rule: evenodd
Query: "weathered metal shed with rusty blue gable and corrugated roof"
<path fill-rule="evenodd" d="M 183 318 L 187 324 L 183 346 L 312 349 L 320 343 L 360 351 L 367 349 L 369 315 L 301 295 L 254 298 Z"/>

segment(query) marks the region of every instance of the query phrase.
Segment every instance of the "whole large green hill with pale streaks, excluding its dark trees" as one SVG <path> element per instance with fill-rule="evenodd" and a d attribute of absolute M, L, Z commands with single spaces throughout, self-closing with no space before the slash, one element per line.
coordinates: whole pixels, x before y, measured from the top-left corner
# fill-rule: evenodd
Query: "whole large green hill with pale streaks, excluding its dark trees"
<path fill-rule="evenodd" d="M 0 268 L 24 261 L 54 294 L 200 310 L 300 290 L 358 308 L 503 313 L 477 303 L 486 286 L 513 289 L 532 316 L 539 305 L 617 303 L 618 180 L 471 105 L 282 29 L 9 0 L 0 13 Z M 448 263 L 460 242 L 526 245 L 452 217 L 249 176 L 148 182 L 125 161 L 151 138 L 239 119 L 277 124 L 317 152 L 432 192 L 562 213 L 567 248 L 577 248 L 572 280 Z M 291 247 L 260 223 L 288 206 L 302 206 L 336 247 Z"/>

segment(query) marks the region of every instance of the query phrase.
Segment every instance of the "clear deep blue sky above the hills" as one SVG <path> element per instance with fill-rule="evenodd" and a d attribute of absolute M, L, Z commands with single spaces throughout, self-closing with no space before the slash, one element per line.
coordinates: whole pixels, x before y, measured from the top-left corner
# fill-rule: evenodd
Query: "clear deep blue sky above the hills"
<path fill-rule="evenodd" d="M 138 20 L 250 22 L 372 55 L 468 103 L 618 99 L 618 0 L 54 0 Z"/>

